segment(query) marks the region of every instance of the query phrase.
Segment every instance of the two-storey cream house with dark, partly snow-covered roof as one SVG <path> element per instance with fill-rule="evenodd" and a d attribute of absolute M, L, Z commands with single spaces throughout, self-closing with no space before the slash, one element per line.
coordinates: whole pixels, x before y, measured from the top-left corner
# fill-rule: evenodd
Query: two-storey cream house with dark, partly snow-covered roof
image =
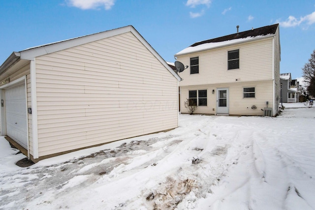
<path fill-rule="evenodd" d="M 190 66 L 179 74 L 182 107 L 192 98 L 197 114 L 278 114 L 279 24 L 196 42 L 175 57 Z"/>

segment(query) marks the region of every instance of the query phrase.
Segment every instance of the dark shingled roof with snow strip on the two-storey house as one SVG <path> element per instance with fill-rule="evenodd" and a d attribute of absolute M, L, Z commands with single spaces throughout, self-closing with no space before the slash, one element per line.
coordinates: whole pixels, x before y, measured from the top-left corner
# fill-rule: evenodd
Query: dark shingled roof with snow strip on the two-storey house
<path fill-rule="evenodd" d="M 246 30 L 243 32 L 233 33 L 226 36 L 196 42 L 190 45 L 188 48 L 185 48 L 184 50 L 176 53 L 175 56 L 228 46 L 236 43 L 253 41 L 261 38 L 268 38 L 271 36 L 275 36 L 278 27 L 279 24 L 274 24 L 271 26 L 264 26 L 257 29 Z"/>

